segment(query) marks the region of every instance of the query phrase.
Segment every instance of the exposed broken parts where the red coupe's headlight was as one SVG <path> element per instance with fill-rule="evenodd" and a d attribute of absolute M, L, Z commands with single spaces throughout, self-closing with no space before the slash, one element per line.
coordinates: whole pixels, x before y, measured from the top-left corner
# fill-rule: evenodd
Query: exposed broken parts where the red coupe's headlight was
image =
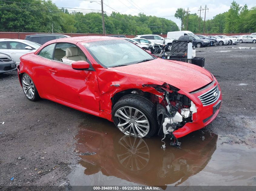
<path fill-rule="evenodd" d="M 176 137 L 175 131 L 185 126 L 186 123 L 193 122 L 192 117 L 194 113 L 197 113 L 197 107 L 185 94 L 179 93 L 180 90 L 178 88 L 167 83 L 143 86 L 153 87 L 162 94 L 162 96 L 156 95 L 158 97 L 158 102 L 156 102 L 159 124 L 158 135 L 164 135 L 164 138 L 166 135 L 170 135 L 171 139 L 174 138 L 174 142 L 172 142 L 171 145 L 179 148 L 181 143 L 178 142 L 178 137 L 180 136 L 176 135 Z M 165 144 L 162 145 L 162 148 L 165 148 Z"/>

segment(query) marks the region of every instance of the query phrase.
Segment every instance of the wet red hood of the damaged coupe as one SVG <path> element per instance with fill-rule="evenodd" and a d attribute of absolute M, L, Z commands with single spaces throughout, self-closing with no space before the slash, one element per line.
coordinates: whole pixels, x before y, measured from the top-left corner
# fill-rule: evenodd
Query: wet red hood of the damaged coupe
<path fill-rule="evenodd" d="M 199 89 L 213 81 L 211 73 L 204 68 L 194 64 L 160 58 L 108 69 L 141 77 L 153 84 L 166 82 L 186 92 Z"/>

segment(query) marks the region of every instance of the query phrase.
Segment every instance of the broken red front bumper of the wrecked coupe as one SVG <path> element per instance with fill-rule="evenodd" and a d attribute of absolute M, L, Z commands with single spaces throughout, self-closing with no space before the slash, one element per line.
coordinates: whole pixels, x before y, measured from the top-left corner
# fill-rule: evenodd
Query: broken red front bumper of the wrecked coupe
<path fill-rule="evenodd" d="M 204 94 L 205 92 L 211 90 L 216 85 L 218 85 L 218 88 L 220 90 L 219 98 L 214 103 L 212 103 L 211 105 L 203 106 L 203 104 L 199 100 L 198 96 L 200 96 L 200 95 Z M 220 89 L 219 84 L 218 84 L 217 81 L 215 81 L 215 83 L 212 86 L 210 86 L 209 88 L 204 89 L 203 91 L 199 91 L 195 94 L 190 94 L 190 93 L 187 93 L 187 92 L 182 91 L 182 90 L 180 90 L 178 93 L 184 94 L 190 100 L 192 100 L 193 103 L 195 104 L 196 108 L 197 108 L 197 112 L 193 113 L 193 115 L 192 115 L 192 121 L 193 122 L 186 123 L 183 127 L 177 129 L 176 131 L 174 131 L 172 133 L 175 136 L 175 138 L 183 137 L 183 136 L 185 136 L 185 135 L 187 135 L 187 134 L 189 134 L 193 131 L 196 131 L 198 129 L 201 129 L 201 128 L 207 126 L 218 115 L 221 105 L 218 107 L 217 110 L 214 111 L 214 109 L 213 109 L 213 107 L 217 103 L 221 102 L 221 100 L 222 100 L 221 89 Z M 219 103 L 219 104 L 221 104 L 221 103 Z"/>

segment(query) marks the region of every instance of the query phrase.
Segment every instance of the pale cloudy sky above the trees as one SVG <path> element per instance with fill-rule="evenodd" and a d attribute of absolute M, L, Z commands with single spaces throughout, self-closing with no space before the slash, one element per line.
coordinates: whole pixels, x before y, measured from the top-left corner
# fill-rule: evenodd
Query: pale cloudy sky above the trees
<path fill-rule="evenodd" d="M 174 17 L 178 8 L 185 8 L 185 10 L 189 9 L 191 14 L 196 13 L 199 16 L 200 11 L 198 10 L 200 9 L 200 6 L 205 8 L 206 5 L 208 10 L 206 13 L 205 11 L 201 11 L 201 17 L 204 19 L 204 14 L 206 14 L 205 19 L 208 20 L 219 13 L 228 11 L 232 1 L 233 0 L 161 0 L 158 2 L 156 0 L 104 0 L 103 10 L 107 13 L 118 11 L 121 14 L 131 15 L 138 15 L 138 13 L 143 12 L 146 15 L 162 17 L 174 21 L 180 27 L 181 21 Z M 79 11 L 79 9 L 101 10 L 100 0 L 52 0 L 52 2 L 58 7 L 77 8 L 77 11 Z M 255 0 L 236 0 L 236 2 L 240 6 L 247 4 L 249 9 L 256 6 Z"/>

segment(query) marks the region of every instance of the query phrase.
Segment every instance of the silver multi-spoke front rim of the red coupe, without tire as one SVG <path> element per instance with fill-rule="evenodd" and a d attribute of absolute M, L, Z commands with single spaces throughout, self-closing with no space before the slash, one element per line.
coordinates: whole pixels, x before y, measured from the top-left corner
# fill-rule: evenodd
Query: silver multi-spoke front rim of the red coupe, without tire
<path fill-rule="evenodd" d="M 148 118 L 140 110 L 134 107 L 120 107 L 115 112 L 119 119 L 118 129 L 125 135 L 145 137 L 149 132 Z"/>

